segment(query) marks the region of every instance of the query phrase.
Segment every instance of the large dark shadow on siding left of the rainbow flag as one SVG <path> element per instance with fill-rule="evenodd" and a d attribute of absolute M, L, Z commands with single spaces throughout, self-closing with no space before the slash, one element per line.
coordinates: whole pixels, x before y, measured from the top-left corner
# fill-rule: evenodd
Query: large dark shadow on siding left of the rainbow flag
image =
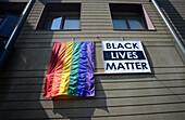
<path fill-rule="evenodd" d="M 42 35 L 48 36 L 40 39 Z M 40 104 L 44 99 L 40 94 L 52 52 L 52 31 L 36 31 L 29 19 L 24 24 L 0 78 L 1 120 L 49 119 Z"/>

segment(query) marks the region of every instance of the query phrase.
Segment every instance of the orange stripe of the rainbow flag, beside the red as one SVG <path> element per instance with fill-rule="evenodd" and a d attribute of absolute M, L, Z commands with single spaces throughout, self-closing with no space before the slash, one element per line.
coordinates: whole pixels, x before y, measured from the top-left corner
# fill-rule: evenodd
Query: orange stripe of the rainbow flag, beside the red
<path fill-rule="evenodd" d="M 58 55 L 58 62 L 54 70 L 54 79 L 52 83 L 51 96 L 57 96 L 60 90 L 60 83 L 63 72 L 63 65 L 65 59 L 66 42 L 61 42 L 61 48 Z"/>

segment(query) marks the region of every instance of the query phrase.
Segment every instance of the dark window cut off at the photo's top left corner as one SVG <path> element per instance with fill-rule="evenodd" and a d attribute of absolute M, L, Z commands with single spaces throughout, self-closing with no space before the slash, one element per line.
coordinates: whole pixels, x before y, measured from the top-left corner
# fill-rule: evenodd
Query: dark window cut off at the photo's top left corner
<path fill-rule="evenodd" d="M 0 56 L 26 2 L 0 2 Z"/>

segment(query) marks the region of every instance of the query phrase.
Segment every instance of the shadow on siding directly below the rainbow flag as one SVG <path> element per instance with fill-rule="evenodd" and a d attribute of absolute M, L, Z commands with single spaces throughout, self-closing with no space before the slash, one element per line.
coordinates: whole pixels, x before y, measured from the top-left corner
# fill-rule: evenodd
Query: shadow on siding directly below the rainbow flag
<path fill-rule="evenodd" d="M 99 93 L 96 91 L 95 97 L 53 97 L 53 114 L 59 114 L 62 116 L 61 118 L 69 118 L 70 120 L 91 120 L 96 109 L 101 109 L 106 112 L 109 112 L 107 107 L 107 97 L 101 83 L 95 88 L 101 90 L 98 91 Z M 101 94 L 101 97 L 97 97 L 97 94 Z"/>

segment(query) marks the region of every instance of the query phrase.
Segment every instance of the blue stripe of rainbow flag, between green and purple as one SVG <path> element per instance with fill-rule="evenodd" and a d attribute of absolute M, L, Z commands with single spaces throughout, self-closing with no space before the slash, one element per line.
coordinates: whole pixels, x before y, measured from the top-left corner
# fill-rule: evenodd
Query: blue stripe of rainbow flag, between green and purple
<path fill-rule="evenodd" d="M 78 67 L 78 79 L 77 79 L 77 96 L 86 96 L 86 53 L 87 42 L 81 42 L 79 49 L 79 67 Z"/>

